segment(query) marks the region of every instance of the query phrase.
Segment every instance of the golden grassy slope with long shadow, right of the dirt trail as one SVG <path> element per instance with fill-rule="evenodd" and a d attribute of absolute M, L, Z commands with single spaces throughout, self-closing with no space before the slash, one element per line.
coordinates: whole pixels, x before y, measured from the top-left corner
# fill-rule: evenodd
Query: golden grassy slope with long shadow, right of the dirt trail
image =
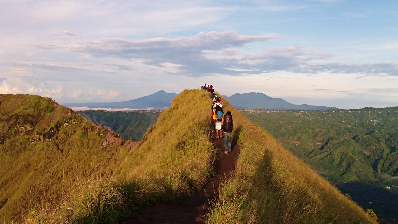
<path fill-rule="evenodd" d="M 376 223 L 328 181 L 224 101 L 240 145 L 207 223 Z"/>

